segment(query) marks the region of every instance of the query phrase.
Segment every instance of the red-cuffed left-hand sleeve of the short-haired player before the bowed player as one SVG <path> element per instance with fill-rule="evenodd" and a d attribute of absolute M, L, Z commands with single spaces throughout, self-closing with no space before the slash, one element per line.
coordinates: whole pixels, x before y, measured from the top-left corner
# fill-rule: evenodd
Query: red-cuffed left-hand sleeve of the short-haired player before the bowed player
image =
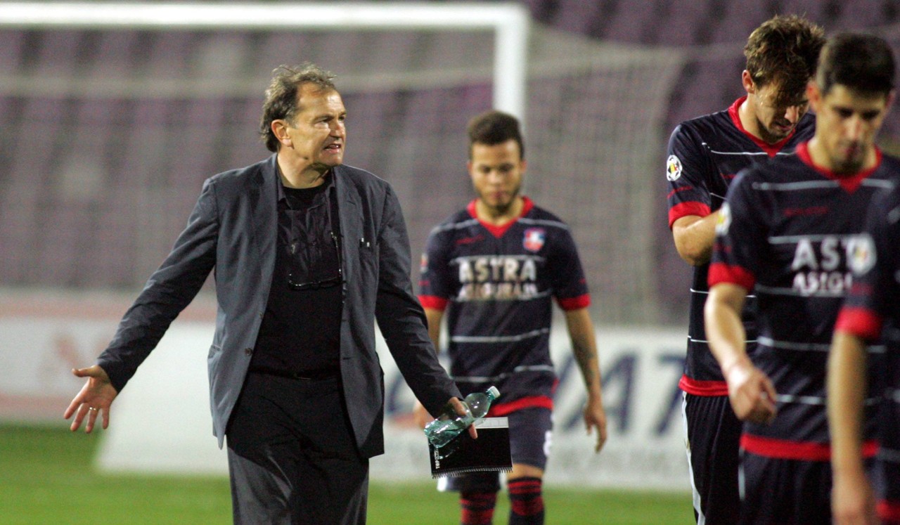
<path fill-rule="evenodd" d="M 752 172 L 742 172 L 729 187 L 716 220 L 716 242 L 709 265 L 709 287 L 729 282 L 752 290 L 756 284 L 755 269 L 760 267 L 760 253 L 767 242 L 770 213 L 752 190 Z"/>

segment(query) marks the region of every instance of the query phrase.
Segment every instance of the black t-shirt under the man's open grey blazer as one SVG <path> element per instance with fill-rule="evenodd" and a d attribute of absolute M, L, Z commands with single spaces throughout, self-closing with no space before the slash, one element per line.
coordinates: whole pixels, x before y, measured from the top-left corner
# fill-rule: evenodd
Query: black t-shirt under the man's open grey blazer
<path fill-rule="evenodd" d="M 338 370 L 343 276 L 333 187 L 329 178 L 279 191 L 275 271 L 250 369 Z"/>

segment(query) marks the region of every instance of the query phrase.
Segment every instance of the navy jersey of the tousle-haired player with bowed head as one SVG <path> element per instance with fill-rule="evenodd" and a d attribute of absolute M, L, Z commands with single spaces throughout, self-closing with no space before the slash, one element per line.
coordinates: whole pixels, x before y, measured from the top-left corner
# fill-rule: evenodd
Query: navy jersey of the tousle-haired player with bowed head
<path fill-rule="evenodd" d="M 740 98 L 728 110 L 682 122 L 669 139 L 666 178 L 669 180 L 669 227 L 682 217 L 706 217 L 722 206 L 728 185 L 743 168 L 792 155 L 797 144 L 812 138 L 815 118 L 804 115 L 794 132 L 777 144 L 767 144 L 743 129 Z M 696 396 L 727 396 L 728 387 L 716 358 L 707 346 L 703 305 L 707 301 L 708 264 L 694 268 L 690 287 L 688 355 L 680 387 Z M 747 298 L 743 312 L 747 339 L 756 338 L 755 298 Z"/>

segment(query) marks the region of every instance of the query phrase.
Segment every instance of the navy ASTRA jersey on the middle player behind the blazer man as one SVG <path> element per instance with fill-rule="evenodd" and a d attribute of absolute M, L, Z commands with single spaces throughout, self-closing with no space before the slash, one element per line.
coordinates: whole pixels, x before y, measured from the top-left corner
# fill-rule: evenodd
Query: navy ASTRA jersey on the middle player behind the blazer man
<path fill-rule="evenodd" d="M 522 214 L 496 227 L 475 202 L 432 230 L 422 256 L 419 300 L 446 309 L 450 375 L 463 394 L 500 389 L 491 414 L 552 408 L 553 298 L 590 305 L 574 240 L 562 220 L 525 199 Z"/>

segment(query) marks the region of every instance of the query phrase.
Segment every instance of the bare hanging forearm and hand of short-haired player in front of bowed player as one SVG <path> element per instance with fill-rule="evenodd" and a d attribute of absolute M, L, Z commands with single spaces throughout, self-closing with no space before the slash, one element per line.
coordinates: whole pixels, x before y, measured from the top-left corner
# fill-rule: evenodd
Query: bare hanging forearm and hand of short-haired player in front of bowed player
<path fill-rule="evenodd" d="M 741 322 L 747 289 L 722 282 L 709 289 L 704 317 L 709 349 L 716 356 L 728 383 L 734 414 L 753 423 L 775 418 L 775 387 L 747 356 L 746 333 Z"/>

